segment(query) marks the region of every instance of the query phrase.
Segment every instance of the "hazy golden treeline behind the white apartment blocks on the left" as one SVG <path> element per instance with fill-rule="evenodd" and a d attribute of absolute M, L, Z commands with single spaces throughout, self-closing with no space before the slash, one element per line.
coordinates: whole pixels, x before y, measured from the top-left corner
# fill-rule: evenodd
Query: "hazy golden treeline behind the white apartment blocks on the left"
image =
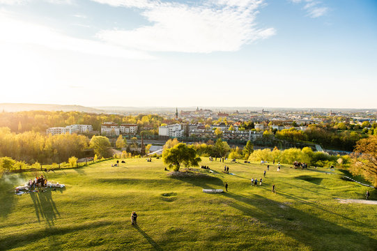
<path fill-rule="evenodd" d="M 157 133 L 161 123 L 171 123 L 162 116 L 139 114 L 124 116 L 118 114 L 91 114 L 86 112 L 1 112 L 0 127 L 8 127 L 12 132 L 45 132 L 50 127 L 64 127 L 73 124 L 92 125 L 93 130 L 100 131 L 103 122 L 134 123 L 146 128 L 145 133 Z"/>

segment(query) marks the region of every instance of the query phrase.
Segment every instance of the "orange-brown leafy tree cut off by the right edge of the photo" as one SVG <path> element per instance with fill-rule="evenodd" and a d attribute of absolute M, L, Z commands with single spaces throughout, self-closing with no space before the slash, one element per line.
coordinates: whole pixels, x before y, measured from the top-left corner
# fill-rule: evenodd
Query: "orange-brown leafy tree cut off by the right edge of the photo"
<path fill-rule="evenodd" d="M 351 172 L 361 174 L 377 188 L 377 135 L 357 142 Z"/>

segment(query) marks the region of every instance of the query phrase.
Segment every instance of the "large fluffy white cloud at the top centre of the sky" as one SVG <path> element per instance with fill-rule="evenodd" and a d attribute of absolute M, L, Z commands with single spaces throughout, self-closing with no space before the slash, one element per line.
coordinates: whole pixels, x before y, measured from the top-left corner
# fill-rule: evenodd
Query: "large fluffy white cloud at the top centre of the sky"
<path fill-rule="evenodd" d="M 231 52 L 268 38 L 275 29 L 256 27 L 261 0 L 208 1 L 201 6 L 156 1 L 93 0 L 111 6 L 141 8 L 153 23 L 133 30 L 104 30 L 108 43 L 151 52 Z"/>

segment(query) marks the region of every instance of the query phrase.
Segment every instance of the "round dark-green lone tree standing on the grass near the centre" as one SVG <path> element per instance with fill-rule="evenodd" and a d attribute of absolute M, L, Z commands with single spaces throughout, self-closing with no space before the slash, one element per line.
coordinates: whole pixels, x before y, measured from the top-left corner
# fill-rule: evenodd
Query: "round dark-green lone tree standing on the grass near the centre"
<path fill-rule="evenodd" d="M 165 149 L 162 153 L 162 160 L 165 165 L 169 165 L 169 169 L 173 169 L 175 172 L 179 171 L 180 165 L 197 167 L 201 162 L 201 158 L 197 157 L 197 151 L 184 143 L 176 144 L 171 149 Z"/>

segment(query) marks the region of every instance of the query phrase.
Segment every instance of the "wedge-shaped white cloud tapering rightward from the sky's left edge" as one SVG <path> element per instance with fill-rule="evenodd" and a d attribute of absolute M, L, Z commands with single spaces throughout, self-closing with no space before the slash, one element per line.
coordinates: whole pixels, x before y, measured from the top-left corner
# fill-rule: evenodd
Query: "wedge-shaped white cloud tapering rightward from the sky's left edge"
<path fill-rule="evenodd" d="M 68 50 L 100 56 L 130 59 L 151 59 L 145 52 L 124 48 L 93 40 L 72 38 L 54 29 L 39 24 L 17 20 L 12 13 L 0 11 L 0 43 L 6 45 L 39 45 L 53 50 Z"/>

